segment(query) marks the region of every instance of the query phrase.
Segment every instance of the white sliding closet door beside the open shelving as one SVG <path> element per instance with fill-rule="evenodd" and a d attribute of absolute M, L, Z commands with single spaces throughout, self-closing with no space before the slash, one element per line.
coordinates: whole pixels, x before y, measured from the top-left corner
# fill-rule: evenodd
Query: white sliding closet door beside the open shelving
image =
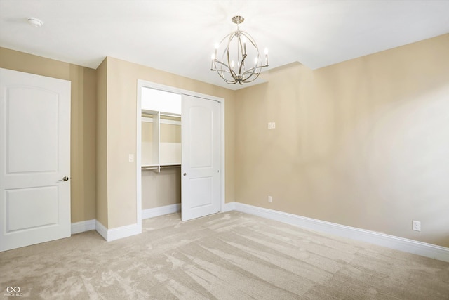
<path fill-rule="evenodd" d="M 220 103 L 182 95 L 181 216 L 220 211 Z"/>

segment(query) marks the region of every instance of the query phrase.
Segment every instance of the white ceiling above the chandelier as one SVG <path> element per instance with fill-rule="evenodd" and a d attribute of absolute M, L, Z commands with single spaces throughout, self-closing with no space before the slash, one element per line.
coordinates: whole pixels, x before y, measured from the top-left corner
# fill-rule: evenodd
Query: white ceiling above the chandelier
<path fill-rule="evenodd" d="M 239 89 L 210 71 L 234 15 L 269 49 L 269 68 L 317 69 L 448 33 L 448 13 L 448 0 L 0 0 L 0 46 L 94 69 L 112 56 Z"/>

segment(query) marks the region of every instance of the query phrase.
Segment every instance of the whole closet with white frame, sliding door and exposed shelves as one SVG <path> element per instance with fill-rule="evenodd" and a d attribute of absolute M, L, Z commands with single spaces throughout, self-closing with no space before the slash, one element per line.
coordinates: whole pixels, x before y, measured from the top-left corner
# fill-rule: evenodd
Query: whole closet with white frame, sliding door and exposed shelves
<path fill-rule="evenodd" d="M 224 105 L 138 80 L 138 220 L 181 211 L 187 221 L 224 208 Z"/>

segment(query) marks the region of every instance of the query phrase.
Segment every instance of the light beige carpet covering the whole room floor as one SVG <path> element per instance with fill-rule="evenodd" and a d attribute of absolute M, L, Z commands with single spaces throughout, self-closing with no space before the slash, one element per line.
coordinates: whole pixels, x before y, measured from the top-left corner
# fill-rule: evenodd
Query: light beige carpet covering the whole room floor
<path fill-rule="evenodd" d="M 143 221 L 0 253 L 0 296 L 31 299 L 449 299 L 449 263 L 230 211 Z"/>

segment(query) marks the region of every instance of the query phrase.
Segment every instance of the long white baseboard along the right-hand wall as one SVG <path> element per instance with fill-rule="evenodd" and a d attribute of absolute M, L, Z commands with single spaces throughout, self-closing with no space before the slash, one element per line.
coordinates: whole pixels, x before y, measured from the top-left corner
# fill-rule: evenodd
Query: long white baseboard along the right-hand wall
<path fill-rule="evenodd" d="M 352 240 L 369 242 L 371 244 L 377 244 L 382 247 L 418 254 L 421 256 L 429 257 L 431 259 L 438 259 L 439 261 L 449 262 L 449 248 L 446 247 L 427 244 L 425 242 L 418 242 L 415 240 L 408 240 L 403 237 L 396 237 L 384 233 L 376 233 L 370 230 L 343 226 L 340 224 L 311 219 L 295 214 L 288 214 L 282 211 L 255 207 L 253 205 L 243 204 L 239 202 L 235 202 L 234 207 L 236 211 L 241 211 L 246 214 L 262 216 L 267 219 L 281 221 L 283 223 L 292 224 L 310 230 L 339 235 L 341 237 L 348 237 Z"/>

